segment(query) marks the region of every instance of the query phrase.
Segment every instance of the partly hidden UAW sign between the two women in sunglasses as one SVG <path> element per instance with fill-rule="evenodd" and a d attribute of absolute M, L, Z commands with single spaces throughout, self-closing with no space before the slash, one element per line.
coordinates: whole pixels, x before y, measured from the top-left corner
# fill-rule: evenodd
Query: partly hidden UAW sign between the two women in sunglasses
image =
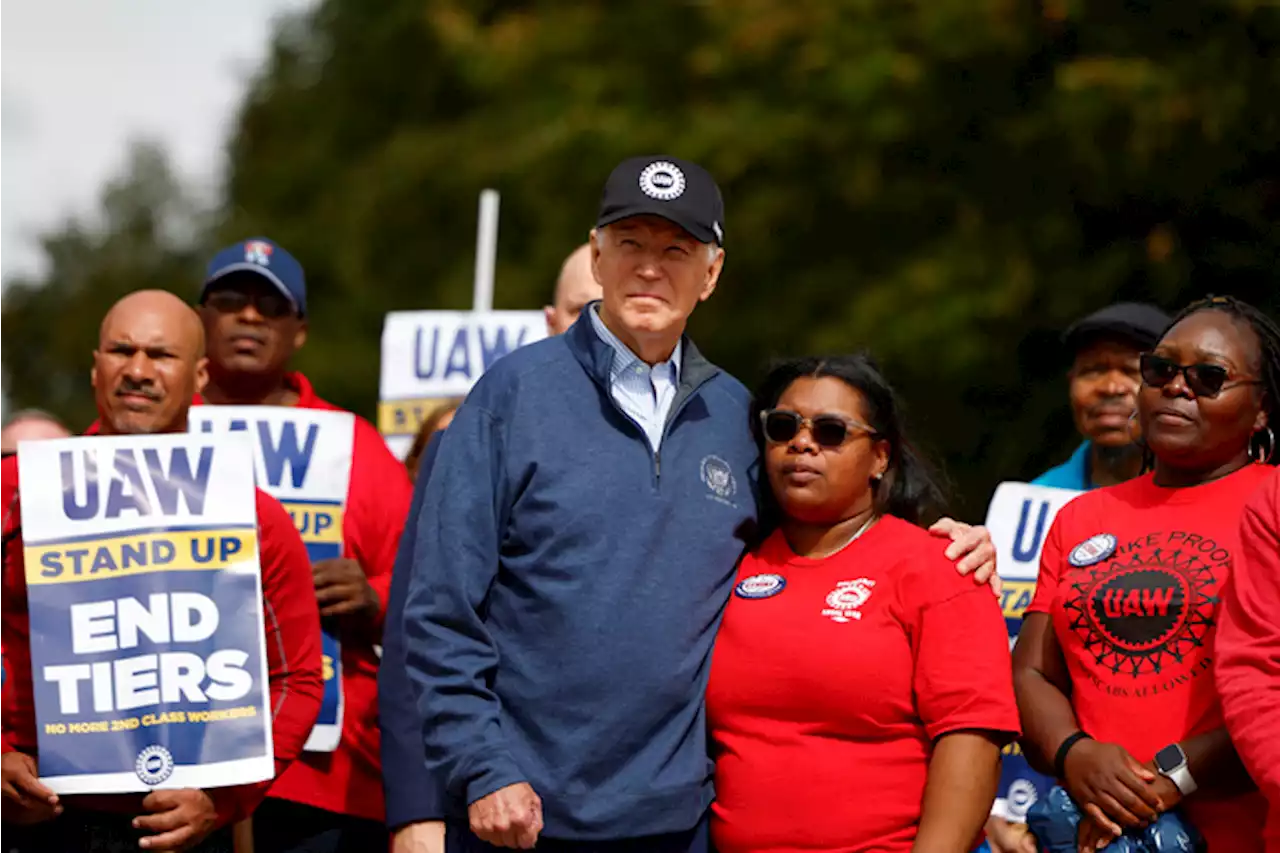
<path fill-rule="evenodd" d="M 1018 639 L 1023 613 L 1036 596 L 1044 537 L 1059 510 L 1078 494 L 1080 493 L 1048 485 L 1001 483 L 991 498 L 987 529 L 996 546 L 996 567 L 1004 581 L 1001 607 L 1005 611 L 1010 648 Z M 992 815 L 1025 822 L 1027 809 L 1051 785 L 1052 780 L 1032 770 L 1019 744 L 1012 743 L 1004 749 L 998 795 L 992 806 Z"/>

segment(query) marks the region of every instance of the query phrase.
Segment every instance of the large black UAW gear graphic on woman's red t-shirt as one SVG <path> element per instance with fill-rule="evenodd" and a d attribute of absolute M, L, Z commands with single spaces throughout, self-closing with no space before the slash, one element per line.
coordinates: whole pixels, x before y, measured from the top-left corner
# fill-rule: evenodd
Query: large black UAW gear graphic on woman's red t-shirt
<path fill-rule="evenodd" d="M 1207 674 L 1217 588 L 1230 562 L 1213 539 L 1174 530 L 1126 542 L 1112 558 L 1071 573 L 1064 608 L 1103 689 L 1144 697 Z"/>

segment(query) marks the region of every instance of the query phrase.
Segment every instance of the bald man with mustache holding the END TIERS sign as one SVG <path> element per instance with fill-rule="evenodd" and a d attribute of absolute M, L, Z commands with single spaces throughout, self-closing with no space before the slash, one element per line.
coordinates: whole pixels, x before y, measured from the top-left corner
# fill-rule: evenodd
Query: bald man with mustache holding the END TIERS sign
<path fill-rule="evenodd" d="M 192 310 L 160 291 L 120 300 L 93 352 L 100 434 L 187 432 L 191 400 L 207 373 L 204 332 Z M 76 797 L 40 784 L 32 703 L 18 466 L 0 462 L 0 644 L 10 680 L 0 693 L 0 821 L 5 849 L 230 850 L 227 826 L 253 811 L 270 781 L 237 788 L 157 790 L 147 797 Z M 262 599 L 279 775 L 301 752 L 320 710 L 320 624 L 308 606 L 306 547 L 284 508 L 257 493 Z M 140 816 L 141 812 L 141 816 Z M 19 829 L 23 827 L 23 829 Z"/>

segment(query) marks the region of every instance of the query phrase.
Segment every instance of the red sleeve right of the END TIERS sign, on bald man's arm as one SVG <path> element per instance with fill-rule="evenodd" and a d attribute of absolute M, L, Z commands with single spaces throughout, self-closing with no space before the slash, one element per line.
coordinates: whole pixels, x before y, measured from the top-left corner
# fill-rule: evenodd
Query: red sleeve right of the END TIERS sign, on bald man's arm
<path fill-rule="evenodd" d="M 320 611 L 311 581 L 311 560 L 289 514 L 257 493 L 259 557 L 262 564 L 264 628 L 271 686 L 271 740 L 275 776 L 302 753 L 324 693 L 320 663 Z M 247 817 L 274 779 L 210 792 L 220 824 Z"/>

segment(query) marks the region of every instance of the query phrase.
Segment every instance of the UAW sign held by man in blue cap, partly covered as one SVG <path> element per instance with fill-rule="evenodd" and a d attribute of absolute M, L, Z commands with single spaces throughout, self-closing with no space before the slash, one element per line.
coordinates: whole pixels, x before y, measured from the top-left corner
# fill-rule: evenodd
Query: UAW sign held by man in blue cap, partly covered
<path fill-rule="evenodd" d="M 343 556 L 355 415 L 289 406 L 195 406 L 189 421 L 192 432 L 248 432 L 257 487 L 288 510 L 311 562 Z M 333 752 L 342 740 L 342 644 L 328 630 L 320 639 L 324 698 L 303 748 Z"/>

